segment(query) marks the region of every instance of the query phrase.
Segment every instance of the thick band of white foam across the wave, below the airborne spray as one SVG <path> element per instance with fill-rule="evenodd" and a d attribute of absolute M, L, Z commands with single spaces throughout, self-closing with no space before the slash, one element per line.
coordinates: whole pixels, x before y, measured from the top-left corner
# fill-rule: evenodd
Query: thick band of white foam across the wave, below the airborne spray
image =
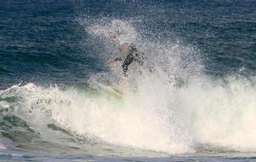
<path fill-rule="evenodd" d="M 37 113 L 46 114 L 63 129 L 123 147 L 172 154 L 192 152 L 197 143 L 256 150 L 256 132 L 249 125 L 256 118 L 256 89 L 249 80 L 190 79 L 172 90 L 161 79 L 154 81 L 143 82 L 138 92 L 128 93 L 119 104 L 74 87 L 62 90 L 33 83 L 11 87 L 1 97 L 3 93 L 20 97 L 15 109 L 24 116 L 28 109 L 40 109 Z M 38 122 L 37 117 L 33 120 Z"/>

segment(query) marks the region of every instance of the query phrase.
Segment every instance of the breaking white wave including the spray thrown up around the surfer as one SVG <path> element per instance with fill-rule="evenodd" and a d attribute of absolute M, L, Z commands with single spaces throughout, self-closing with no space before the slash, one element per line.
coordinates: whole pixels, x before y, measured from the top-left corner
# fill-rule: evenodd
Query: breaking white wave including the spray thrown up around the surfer
<path fill-rule="evenodd" d="M 182 41 L 145 40 L 124 20 L 85 27 L 105 45 L 98 57 L 119 54 L 106 40 L 116 26 L 125 27 L 120 41 L 131 38 L 146 53 L 145 66 L 131 67 L 124 97 L 104 91 L 108 85 L 117 86 L 120 62 L 92 75 L 82 86 L 14 85 L 0 92 L 1 120 L 6 125 L 2 132 L 22 128 L 20 134 L 52 143 L 63 143 L 62 138 L 65 144 L 79 143 L 69 140 L 76 136 L 90 145 L 110 143 L 171 154 L 209 148 L 256 151 L 256 132 L 249 125 L 256 119 L 254 77 L 206 75 L 195 47 Z M 61 133 L 54 135 L 52 130 Z M 15 131 L 2 135 L 17 143 L 33 141 L 11 138 Z"/>

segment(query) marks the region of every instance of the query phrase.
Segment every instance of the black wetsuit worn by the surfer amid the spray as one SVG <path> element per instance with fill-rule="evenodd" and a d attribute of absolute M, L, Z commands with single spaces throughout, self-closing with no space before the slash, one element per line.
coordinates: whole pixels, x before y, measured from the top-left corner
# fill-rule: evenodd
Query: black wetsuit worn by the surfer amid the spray
<path fill-rule="evenodd" d="M 123 58 L 115 58 L 115 61 L 121 61 Z M 133 62 L 138 62 L 141 66 L 143 65 L 144 53 L 138 51 L 135 45 L 129 45 L 128 47 L 128 56 L 124 59 L 122 65 L 124 76 L 128 77 L 128 66 Z"/>

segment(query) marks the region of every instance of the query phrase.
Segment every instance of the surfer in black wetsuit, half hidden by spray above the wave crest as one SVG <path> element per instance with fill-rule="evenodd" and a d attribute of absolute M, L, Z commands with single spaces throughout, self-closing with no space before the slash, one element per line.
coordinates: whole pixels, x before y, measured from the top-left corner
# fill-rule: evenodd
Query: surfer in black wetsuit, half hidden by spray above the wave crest
<path fill-rule="evenodd" d="M 111 40 L 119 43 L 117 36 L 113 35 L 111 36 Z M 124 77 L 128 78 L 128 66 L 132 63 L 132 62 L 137 62 L 139 65 L 143 65 L 143 58 L 144 58 L 144 53 L 141 53 L 141 51 L 139 51 L 135 45 L 133 44 L 128 44 L 128 43 L 124 43 L 122 45 L 119 45 L 119 51 L 121 53 L 121 57 L 119 58 L 115 58 L 115 59 L 110 59 L 106 61 L 106 64 L 110 65 L 114 62 L 117 61 L 122 61 L 124 60 L 122 67 L 123 67 L 123 72 L 124 72 Z"/>

